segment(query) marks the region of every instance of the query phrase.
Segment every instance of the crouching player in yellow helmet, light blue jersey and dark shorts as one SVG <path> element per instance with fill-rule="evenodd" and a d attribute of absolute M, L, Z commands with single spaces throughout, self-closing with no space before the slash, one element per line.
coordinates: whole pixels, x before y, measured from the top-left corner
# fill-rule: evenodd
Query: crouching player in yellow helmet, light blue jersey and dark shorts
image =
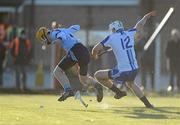
<path fill-rule="evenodd" d="M 52 26 L 51 30 L 46 27 L 41 27 L 36 33 L 36 38 L 39 41 L 42 41 L 45 45 L 59 43 L 61 48 L 63 48 L 67 53 L 53 71 L 54 76 L 64 88 L 64 93 L 58 101 L 64 101 L 68 97 L 74 96 L 75 93 L 71 88 L 68 77 L 66 76 L 66 71 L 78 64 L 80 82 L 85 86 L 92 84 L 97 90 L 97 101 L 100 102 L 103 98 L 102 86 L 97 80 L 88 75 L 90 53 L 74 35 L 74 33 L 79 30 L 79 25 L 73 25 L 69 28 L 63 28 L 60 27 L 60 25 L 55 25 Z"/>

